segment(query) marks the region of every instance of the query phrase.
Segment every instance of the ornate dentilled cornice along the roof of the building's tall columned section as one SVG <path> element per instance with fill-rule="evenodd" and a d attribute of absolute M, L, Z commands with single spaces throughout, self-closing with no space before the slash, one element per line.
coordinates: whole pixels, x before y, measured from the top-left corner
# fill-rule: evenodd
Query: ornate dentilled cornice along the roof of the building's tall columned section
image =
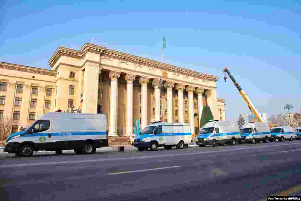
<path fill-rule="evenodd" d="M 106 55 L 107 57 L 110 57 L 110 58 L 116 58 L 119 60 L 129 61 L 129 62 L 136 63 L 136 64 L 142 64 L 145 66 L 161 69 L 164 71 L 172 71 L 172 72 L 175 72 L 178 74 L 184 74 L 187 76 L 192 76 L 192 77 L 196 77 L 196 78 L 200 78 L 200 79 L 204 79 L 204 80 L 212 80 L 212 81 L 216 82 L 219 79 L 218 76 L 199 73 L 197 71 L 180 68 L 180 67 L 173 66 L 170 64 L 165 64 L 165 63 L 162 63 L 159 61 L 154 61 L 151 59 L 142 58 L 142 57 L 130 55 L 127 53 L 118 52 L 115 50 L 107 49 L 102 46 L 94 45 L 92 43 L 85 43 L 81 47 L 80 50 L 73 50 L 73 49 L 64 48 L 64 47 L 58 47 L 57 50 L 52 55 L 52 57 L 49 59 L 48 64 L 51 67 L 53 67 L 54 64 L 57 62 L 57 60 L 61 57 L 61 55 L 80 59 L 80 58 L 83 58 L 87 52 L 93 52 L 93 53 L 97 53 L 97 54 L 103 53 L 104 55 Z"/>

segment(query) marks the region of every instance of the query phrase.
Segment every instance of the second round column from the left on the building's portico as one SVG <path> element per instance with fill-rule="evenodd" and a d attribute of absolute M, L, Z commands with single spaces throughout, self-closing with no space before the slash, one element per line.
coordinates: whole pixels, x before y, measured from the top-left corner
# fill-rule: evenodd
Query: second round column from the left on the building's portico
<path fill-rule="evenodd" d="M 133 81 L 136 75 L 126 74 L 126 134 L 132 136 L 133 126 Z"/>

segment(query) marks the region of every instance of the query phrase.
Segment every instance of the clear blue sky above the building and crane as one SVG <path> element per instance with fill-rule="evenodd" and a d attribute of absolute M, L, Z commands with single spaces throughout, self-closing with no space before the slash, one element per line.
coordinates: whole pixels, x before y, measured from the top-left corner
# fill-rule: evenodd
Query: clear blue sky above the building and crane
<path fill-rule="evenodd" d="M 299 1 L 2 1 L 0 61 L 50 69 L 58 46 L 85 42 L 219 76 L 226 119 L 301 108 Z M 162 51 L 163 34 L 166 49 Z M 93 39 L 92 39 L 93 38 Z M 164 53 L 164 57 L 162 54 Z"/>

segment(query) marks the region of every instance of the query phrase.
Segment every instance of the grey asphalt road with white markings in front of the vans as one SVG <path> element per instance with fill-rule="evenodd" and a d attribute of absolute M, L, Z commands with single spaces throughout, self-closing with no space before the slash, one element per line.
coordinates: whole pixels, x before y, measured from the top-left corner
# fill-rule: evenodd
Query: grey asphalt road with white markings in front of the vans
<path fill-rule="evenodd" d="M 261 200 L 301 185 L 301 141 L 0 158 L 1 200 Z M 294 193 L 301 195 L 301 193 Z"/>

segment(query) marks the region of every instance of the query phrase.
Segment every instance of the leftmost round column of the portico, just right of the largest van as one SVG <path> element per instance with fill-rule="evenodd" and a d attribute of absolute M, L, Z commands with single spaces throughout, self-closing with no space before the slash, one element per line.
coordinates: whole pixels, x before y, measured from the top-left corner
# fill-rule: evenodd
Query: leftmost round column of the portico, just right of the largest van
<path fill-rule="evenodd" d="M 110 71 L 109 77 L 111 79 L 109 135 L 110 136 L 117 136 L 117 131 L 116 131 L 116 112 L 117 112 L 116 100 L 117 100 L 117 80 L 120 77 L 120 72 Z"/>

